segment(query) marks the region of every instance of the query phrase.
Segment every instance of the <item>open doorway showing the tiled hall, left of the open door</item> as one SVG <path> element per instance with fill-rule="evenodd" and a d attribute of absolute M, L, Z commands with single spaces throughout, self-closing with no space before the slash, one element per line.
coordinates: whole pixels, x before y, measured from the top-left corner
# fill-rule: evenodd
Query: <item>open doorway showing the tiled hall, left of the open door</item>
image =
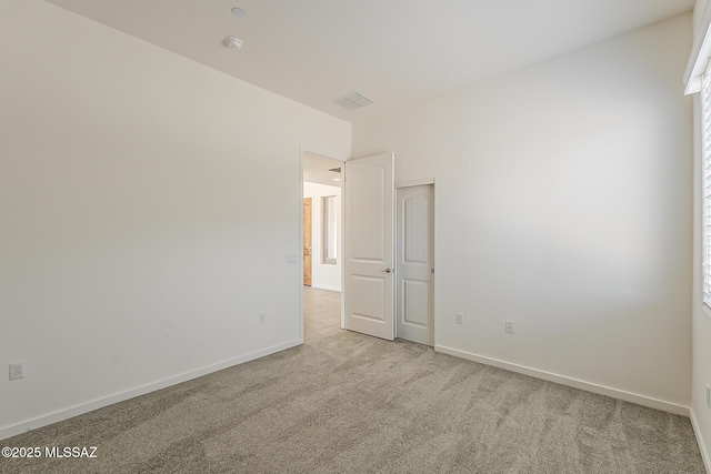
<path fill-rule="evenodd" d="M 338 160 L 302 153 L 306 342 L 342 327 L 342 167 Z"/>

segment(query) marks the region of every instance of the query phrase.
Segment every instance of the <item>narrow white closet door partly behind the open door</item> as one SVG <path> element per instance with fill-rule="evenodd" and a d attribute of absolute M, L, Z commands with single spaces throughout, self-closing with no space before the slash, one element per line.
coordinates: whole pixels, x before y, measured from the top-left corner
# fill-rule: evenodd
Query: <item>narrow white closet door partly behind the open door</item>
<path fill-rule="evenodd" d="M 434 344 L 434 185 L 398 189 L 398 337 Z"/>

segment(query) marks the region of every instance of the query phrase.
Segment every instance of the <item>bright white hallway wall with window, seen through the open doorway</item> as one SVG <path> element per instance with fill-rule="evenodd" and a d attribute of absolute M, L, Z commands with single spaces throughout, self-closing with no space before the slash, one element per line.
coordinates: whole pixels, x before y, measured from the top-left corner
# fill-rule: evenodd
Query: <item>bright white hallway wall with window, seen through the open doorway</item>
<path fill-rule="evenodd" d="M 336 234 L 338 245 L 336 248 L 336 265 L 323 263 L 323 205 L 322 198 L 334 195 L 336 209 L 338 209 L 338 224 Z M 311 198 L 311 286 L 323 290 L 341 291 L 341 188 L 327 186 L 318 183 L 303 183 L 303 196 Z"/>

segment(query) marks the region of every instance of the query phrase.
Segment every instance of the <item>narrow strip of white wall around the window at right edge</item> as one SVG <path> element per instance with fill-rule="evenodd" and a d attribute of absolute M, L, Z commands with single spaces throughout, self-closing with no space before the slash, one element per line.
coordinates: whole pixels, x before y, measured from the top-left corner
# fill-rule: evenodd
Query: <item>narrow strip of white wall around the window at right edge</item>
<path fill-rule="evenodd" d="M 707 7 L 705 0 L 697 0 L 693 10 L 694 37 L 700 31 L 701 18 Z M 693 208 L 693 356 L 691 375 L 691 420 L 697 432 L 699 446 L 707 470 L 711 470 L 711 410 L 707 406 L 707 384 L 711 384 L 711 310 L 702 303 L 701 296 L 701 104 L 699 94 L 694 99 L 694 208 Z"/>

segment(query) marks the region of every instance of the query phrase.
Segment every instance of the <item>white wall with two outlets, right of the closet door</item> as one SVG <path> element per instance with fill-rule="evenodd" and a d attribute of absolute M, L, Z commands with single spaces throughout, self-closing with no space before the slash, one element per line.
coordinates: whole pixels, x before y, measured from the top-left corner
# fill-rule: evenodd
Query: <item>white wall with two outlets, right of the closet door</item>
<path fill-rule="evenodd" d="M 353 124 L 354 157 L 391 150 L 397 181 L 437 180 L 438 350 L 688 413 L 690 29 Z"/>

